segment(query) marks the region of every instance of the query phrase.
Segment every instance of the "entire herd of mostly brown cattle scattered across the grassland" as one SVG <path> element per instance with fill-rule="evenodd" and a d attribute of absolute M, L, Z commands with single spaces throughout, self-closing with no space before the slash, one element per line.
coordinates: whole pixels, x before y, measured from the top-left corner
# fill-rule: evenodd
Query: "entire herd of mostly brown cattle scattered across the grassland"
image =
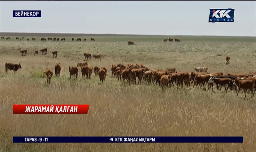
<path fill-rule="evenodd" d="M 4 38 L 4 37 L 2 37 Z M 10 39 L 9 37 L 7 37 Z M 6 39 L 7 39 L 6 38 Z M 17 39 L 17 38 L 16 38 Z M 48 38 L 51 40 L 52 38 Z M 54 41 L 56 38 L 53 38 Z M 32 38 L 32 40 L 35 40 Z M 45 38 L 41 40 L 46 41 Z M 57 40 L 57 39 L 56 39 Z M 74 38 L 72 38 L 72 41 Z M 86 40 L 86 39 L 84 39 Z M 173 39 L 167 38 L 164 39 L 164 42 L 169 40 L 170 42 Z M 65 38 L 62 38 L 61 41 L 65 41 Z M 81 41 L 81 38 L 78 38 L 77 41 Z M 91 41 L 95 41 L 91 38 Z M 175 42 L 180 42 L 179 39 L 175 39 Z M 134 42 L 129 41 L 128 45 L 134 45 Z M 28 54 L 27 50 L 21 50 L 21 55 Z M 47 48 L 40 50 L 42 55 L 47 54 Z M 34 52 L 34 55 L 38 55 L 38 51 Z M 53 58 L 57 57 L 58 52 L 52 51 Z M 92 56 L 97 59 L 101 60 L 102 55 L 100 54 L 93 54 L 84 53 L 84 60 L 90 60 Z M 229 64 L 230 57 L 226 57 L 226 64 Z M 5 72 L 8 70 L 13 70 L 14 73 L 21 69 L 21 65 L 13 64 L 13 63 L 5 63 Z M 55 67 L 55 75 L 60 76 L 61 66 L 60 63 L 56 63 Z M 95 76 L 99 76 L 100 82 L 103 83 L 105 81 L 107 74 L 107 69 L 105 67 L 98 67 L 98 66 L 90 66 L 87 62 L 77 63 L 77 66 L 69 66 L 69 74 L 70 79 L 72 76 L 75 76 L 76 79 L 78 77 L 78 69 L 81 69 L 82 78 L 86 76 L 87 79 L 92 78 L 92 72 L 94 72 Z M 256 91 L 256 71 L 249 72 L 247 74 L 237 74 L 237 73 L 227 73 L 224 74 L 223 72 L 209 72 L 207 67 L 194 67 L 192 72 L 180 72 L 177 71 L 176 68 L 167 68 L 166 70 L 162 69 L 151 69 L 146 67 L 142 64 L 123 64 L 119 63 L 116 65 L 112 65 L 111 67 L 112 76 L 117 79 L 117 81 L 123 81 L 123 83 L 129 84 L 136 84 L 136 79 L 138 79 L 138 84 L 145 83 L 147 85 L 150 84 L 158 84 L 162 87 L 162 90 L 165 90 L 168 86 L 169 87 L 177 87 L 177 89 L 182 87 L 189 87 L 191 89 L 192 85 L 193 88 L 199 87 L 200 89 L 206 90 L 206 87 L 212 89 L 214 84 L 217 88 L 217 91 L 220 91 L 222 87 L 224 87 L 225 91 L 231 90 L 232 92 L 236 92 L 236 95 L 240 92 L 240 90 L 244 91 L 244 97 L 246 98 L 246 92 L 249 90 L 251 91 L 252 96 L 254 96 L 254 92 Z M 47 77 L 47 83 L 50 84 L 51 77 L 53 76 L 52 69 L 46 69 L 44 75 Z M 174 86 L 175 84 L 175 86 Z"/>

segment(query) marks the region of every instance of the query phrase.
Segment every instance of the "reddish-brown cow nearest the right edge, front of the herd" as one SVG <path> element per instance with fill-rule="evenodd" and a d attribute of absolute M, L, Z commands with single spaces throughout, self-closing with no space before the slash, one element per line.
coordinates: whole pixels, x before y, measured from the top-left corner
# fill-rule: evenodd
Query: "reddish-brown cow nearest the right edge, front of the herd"
<path fill-rule="evenodd" d="M 238 91 L 236 96 L 238 95 L 240 89 L 244 90 L 244 98 L 246 98 L 247 90 L 251 90 L 252 96 L 253 96 L 253 88 L 255 87 L 255 80 L 250 80 L 250 79 L 239 80 L 238 78 L 236 78 L 233 84 L 238 86 Z"/>

